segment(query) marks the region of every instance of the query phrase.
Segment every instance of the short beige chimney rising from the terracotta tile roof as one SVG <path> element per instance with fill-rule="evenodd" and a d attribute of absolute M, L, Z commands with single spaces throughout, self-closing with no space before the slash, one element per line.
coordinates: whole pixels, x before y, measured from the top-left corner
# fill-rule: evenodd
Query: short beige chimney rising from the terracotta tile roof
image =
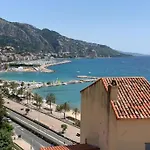
<path fill-rule="evenodd" d="M 111 84 L 108 85 L 108 96 L 110 100 L 117 100 L 118 86 L 116 80 L 112 80 Z"/>

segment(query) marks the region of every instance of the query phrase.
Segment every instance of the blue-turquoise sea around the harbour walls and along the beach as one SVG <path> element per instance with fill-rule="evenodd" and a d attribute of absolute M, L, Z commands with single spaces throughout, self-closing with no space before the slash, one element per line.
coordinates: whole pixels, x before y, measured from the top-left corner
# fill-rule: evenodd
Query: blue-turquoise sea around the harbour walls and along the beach
<path fill-rule="evenodd" d="M 128 57 L 128 58 L 98 58 L 98 59 L 71 59 L 71 63 L 52 66 L 54 73 L 0 73 L 0 78 L 19 81 L 69 81 L 77 79 L 78 75 L 89 75 L 97 77 L 114 76 L 144 76 L 150 81 L 150 57 Z M 54 93 L 57 103 L 69 102 L 72 107 L 80 108 L 80 90 L 91 83 L 71 84 L 67 86 L 56 86 L 36 89 L 43 98 L 48 93 Z"/>

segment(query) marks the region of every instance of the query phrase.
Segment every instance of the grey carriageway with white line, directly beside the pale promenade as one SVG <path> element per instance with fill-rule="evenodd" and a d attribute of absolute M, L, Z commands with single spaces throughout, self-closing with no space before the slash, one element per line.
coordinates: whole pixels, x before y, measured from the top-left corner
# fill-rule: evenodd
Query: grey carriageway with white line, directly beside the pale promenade
<path fill-rule="evenodd" d="M 71 141 L 52 132 L 51 130 L 46 129 L 46 128 L 34 123 L 33 121 L 15 113 L 9 109 L 7 111 L 9 112 L 10 117 L 15 118 L 15 120 L 17 120 L 18 122 L 21 122 L 24 125 L 26 125 L 27 127 L 29 127 L 30 129 L 42 134 L 46 138 L 50 139 L 52 142 L 55 142 L 58 145 L 65 145 L 65 144 L 72 145 L 73 144 Z"/>

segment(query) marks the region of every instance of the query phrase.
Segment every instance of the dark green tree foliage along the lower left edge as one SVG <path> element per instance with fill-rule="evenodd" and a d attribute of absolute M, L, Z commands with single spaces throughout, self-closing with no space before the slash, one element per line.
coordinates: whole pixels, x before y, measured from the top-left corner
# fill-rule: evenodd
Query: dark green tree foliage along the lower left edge
<path fill-rule="evenodd" d="M 12 150 L 13 141 L 11 135 L 13 127 L 6 120 L 4 120 L 6 110 L 3 104 L 3 96 L 0 94 L 0 150 Z"/>

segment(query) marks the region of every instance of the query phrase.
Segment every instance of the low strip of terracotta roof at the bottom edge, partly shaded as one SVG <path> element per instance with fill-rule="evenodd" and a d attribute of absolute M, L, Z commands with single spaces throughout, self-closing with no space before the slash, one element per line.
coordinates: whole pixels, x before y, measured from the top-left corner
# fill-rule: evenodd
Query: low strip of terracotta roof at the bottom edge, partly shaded
<path fill-rule="evenodd" d="M 99 148 L 88 144 L 77 144 L 70 146 L 54 146 L 47 148 L 42 147 L 40 150 L 99 150 Z"/>

